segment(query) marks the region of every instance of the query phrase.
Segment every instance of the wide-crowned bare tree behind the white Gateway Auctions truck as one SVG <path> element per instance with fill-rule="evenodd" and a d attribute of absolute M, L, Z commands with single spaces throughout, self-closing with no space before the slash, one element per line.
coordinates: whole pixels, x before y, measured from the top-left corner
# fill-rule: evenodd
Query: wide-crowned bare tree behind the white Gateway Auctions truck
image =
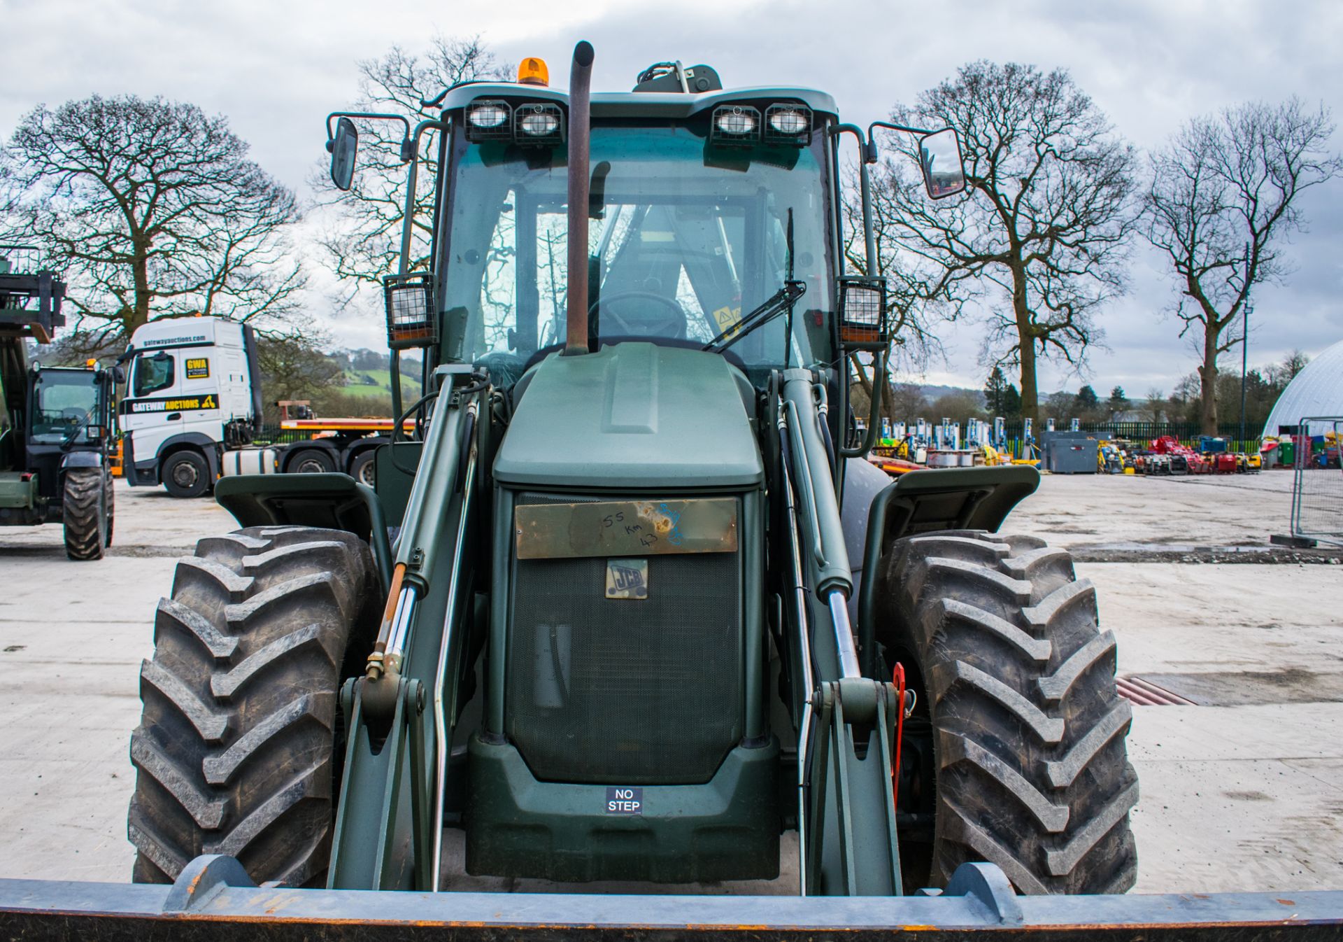
<path fill-rule="evenodd" d="M 70 282 L 90 345 L 158 317 L 283 320 L 304 275 L 294 195 L 223 116 L 133 95 L 39 105 L 0 153 L 8 224 Z"/>

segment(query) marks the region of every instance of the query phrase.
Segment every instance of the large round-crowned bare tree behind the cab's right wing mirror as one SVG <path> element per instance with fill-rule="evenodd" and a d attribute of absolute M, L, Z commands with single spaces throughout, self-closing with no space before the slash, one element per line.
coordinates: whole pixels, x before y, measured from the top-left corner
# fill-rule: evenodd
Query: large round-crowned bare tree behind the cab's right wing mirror
<path fill-rule="evenodd" d="M 960 132 L 966 194 L 931 204 L 917 141 L 873 177 L 890 267 L 924 296 L 984 312 L 986 366 L 1019 368 L 1022 415 L 1038 418 L 1037 360 L 1074 368 L 1103 341 L 1095 313 L 1125 288 L 1133 149 L 1064 70 L 972 62 L 892 120 Z"/>

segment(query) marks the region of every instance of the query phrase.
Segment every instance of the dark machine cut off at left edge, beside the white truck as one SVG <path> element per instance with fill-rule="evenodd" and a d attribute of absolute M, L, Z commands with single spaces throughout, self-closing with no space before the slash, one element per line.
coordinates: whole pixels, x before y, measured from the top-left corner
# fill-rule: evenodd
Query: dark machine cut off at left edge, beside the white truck
<path fill-rule="evenodd" d="M 118 370 L 28 363 L 27 341 L 51 343 L 66 285 L 23 270 L 32 250 L 0 246 L 0 525 L 62 523 L 71 559 L 101 559 L 111 546 L 107 452 Z"/>

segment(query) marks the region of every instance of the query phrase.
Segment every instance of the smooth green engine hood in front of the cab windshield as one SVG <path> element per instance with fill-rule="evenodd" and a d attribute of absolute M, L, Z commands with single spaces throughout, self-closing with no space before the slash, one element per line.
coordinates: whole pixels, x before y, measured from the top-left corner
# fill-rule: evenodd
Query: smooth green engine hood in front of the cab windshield
<path fill-rule="evenodd" d="M 505 484 L 757 488 L 760 449 L 735 368 L 716 353 L 646 343 L 536 368 L 494 461 Z"/>

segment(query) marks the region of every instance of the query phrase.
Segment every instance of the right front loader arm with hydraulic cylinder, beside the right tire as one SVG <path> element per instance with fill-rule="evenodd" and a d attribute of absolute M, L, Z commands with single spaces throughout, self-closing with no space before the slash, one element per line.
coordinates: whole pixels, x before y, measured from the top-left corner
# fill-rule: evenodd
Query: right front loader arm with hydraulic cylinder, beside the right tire
<path fill-rule="evenodd" d="M 776 484 L 792 558 L 794 603 L 783 621 L 798 718 L 802 892 L 894 896 L 901 877 L 890 769 L 902 703 L 892 684 L 858 669 L 849 555 L 817 409 L 823 387 L 806 370 L 780 379 Z"/>

